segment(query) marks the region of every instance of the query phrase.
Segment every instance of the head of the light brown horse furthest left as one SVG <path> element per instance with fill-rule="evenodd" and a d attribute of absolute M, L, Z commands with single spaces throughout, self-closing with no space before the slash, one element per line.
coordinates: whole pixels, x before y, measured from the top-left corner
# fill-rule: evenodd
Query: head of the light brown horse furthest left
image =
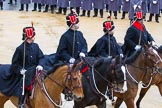
<path fill-rule="evenodd" d="M 81 65 L 82 62 L 69 65 L 67 75 L 67 87 L 71 90 L 75 100 L 81 100 L 84 97 L 82 88 L 82 74 L 80 72 Z"/>

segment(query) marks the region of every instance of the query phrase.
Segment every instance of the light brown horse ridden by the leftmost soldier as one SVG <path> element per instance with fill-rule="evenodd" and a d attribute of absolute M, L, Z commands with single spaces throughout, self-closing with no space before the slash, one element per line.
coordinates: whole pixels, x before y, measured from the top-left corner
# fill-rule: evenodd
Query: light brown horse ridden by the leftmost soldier
<path fill-rule="evenodd" d="M 50 73 L 43 79 L 43 73 L 37 74 L 37 83 L 35 86 L 34 98 L 30 99 L 32 108 L 56 108 L 60 107 L 61 96 L 65 87 L 69 88 L 74 96 L 74 100 L 84 97 L 82 89 L 82 74 L 79 67 L 81 63 L 76 65 L 63 65 L 58 67 L 54 72 Z M 11 96 L 6 97 L 0 92 L 0 108 L 4 107 L 7 100 L 17 106 L 18 98 Z"/>

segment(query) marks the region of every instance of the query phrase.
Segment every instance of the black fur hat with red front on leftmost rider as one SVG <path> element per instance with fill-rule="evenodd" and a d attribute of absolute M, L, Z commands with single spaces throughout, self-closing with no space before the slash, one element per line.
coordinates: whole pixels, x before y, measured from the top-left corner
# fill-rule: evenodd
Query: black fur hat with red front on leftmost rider
<path fill-rule="evenodd" d="M 30 39 L 35 36 L 35 29 L 34 27 L 25 27 L 23 28 L 23 37 L 22 40 L 25 40 L 26 38 Z"/>

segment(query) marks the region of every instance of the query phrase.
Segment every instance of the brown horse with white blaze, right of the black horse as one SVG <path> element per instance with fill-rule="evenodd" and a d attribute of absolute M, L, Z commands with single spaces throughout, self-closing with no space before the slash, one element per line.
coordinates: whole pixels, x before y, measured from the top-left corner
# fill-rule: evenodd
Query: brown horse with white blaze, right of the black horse
<path fill-rule="evenodd" d="M 132 62 L 132 60 L 134 61 Z M 133 57 L 128 58 L 126 67 L 128 90 L 125 93 L 114 92 L 114 96 L 117 96 L 115 108 L 119 108 L 123 101 L 126 103 L 127 108 L 135 108 L 134 99 L 137 95 L 139 82 L 143 81 L 146 74 L 151 74 L 148 69 L 161 68 L 162 61 L 155 49 L 146 47 L 139 54 L 135 53 Z"/>

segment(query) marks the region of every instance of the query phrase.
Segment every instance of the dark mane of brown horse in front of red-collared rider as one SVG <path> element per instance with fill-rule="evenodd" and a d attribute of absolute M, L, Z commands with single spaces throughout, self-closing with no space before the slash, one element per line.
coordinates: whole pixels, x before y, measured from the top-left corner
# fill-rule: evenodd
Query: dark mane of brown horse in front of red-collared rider
<path fill-rule="evenodd" d="M 136 50 L 131 56 L 126 58 L 125 63 L 129 64 L 129 63 L 134 62 L 137 59 L 137 57 L 139 56 L 139 54 L 141 53 L 141 51 L 142 51 L 142 49 L 141 50 Z"/>

